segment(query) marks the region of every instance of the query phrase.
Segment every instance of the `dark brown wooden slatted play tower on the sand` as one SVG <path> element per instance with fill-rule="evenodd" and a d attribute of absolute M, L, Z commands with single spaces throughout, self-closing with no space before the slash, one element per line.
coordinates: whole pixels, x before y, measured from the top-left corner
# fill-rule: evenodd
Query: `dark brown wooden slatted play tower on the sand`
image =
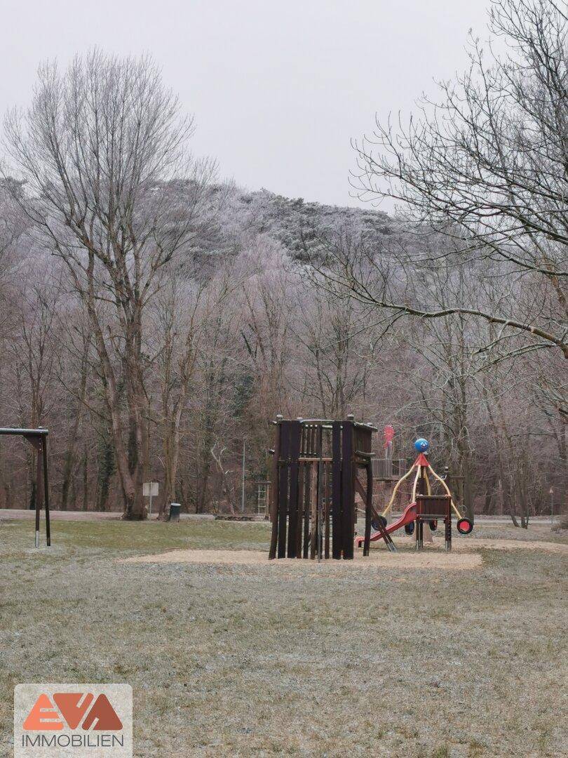
<path fill-rule="evenodd" d="M 357 492 L 366 509 L 369 550 L 373 513 L 371 424 L 326 419 L 276 419 L 273 486 L 270 487 L 272 537 L 269 559 L 354 556 Z M 365 472 L 365 486 L 358 478 Z M 332 525 L 332 528 L 330 528 Z"/>

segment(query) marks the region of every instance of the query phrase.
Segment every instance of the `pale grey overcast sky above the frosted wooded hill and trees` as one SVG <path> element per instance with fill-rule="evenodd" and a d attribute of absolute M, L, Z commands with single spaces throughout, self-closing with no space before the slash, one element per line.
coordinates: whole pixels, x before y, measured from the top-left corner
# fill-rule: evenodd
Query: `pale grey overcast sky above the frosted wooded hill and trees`
<path fill-rule="evenodd" d="M 467 64 L 488 0 L 0 0 L 0 111 L 26 105 L 44 58 L 151 52 L 195 153 L 251 189 L 356 205 L 349 145 Z"/>

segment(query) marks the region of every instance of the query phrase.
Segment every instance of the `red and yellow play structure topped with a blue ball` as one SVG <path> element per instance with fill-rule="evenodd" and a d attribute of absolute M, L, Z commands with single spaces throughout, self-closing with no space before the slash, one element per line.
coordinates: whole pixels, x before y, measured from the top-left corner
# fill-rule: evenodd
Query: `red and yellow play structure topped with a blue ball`
<path fill-rule="evenodd" d="M 389 550 L 396 550 L 392 544 L 390 534 L 393 531 L 404 528 L 407 534 L 415 534 L 416 537 L 416 549 L 422 550 L 424 547 L 424 524 L 429 525 L 432 531 L 435 531 L 438 525 L 438 519 L 442 519 L 445 525 L 445 547 L 446 550 L 451 550 L 451 517 L 452 512 L 457 516 L 457 531 L 460 534 L 470 534 L 473 529 L 473 523 L 469 518 L 464 518 L 460 511 L 457 509 L 456 504 L 451 496 L 448 484 L 445 479 L 436 474 L 429 460 L 426 458 L 426 453 L 429 449 L 429 443 L 422 437 L 416 440 L 414 443 L 414 449 L 418 453 L 417 459 L 413 465 L 410 466 L 407 473 L 402 476 L 397 484 L 395 484 L 392 490 L 392 495 L 381 515 L 373 520 L 373 528 L 375 531 L 370 537 L 370 541 L 383 539 L 389 547 Z M 386 517 L 389 514 L 392 504 L 395 502 L 395 497 L 401 484 L 406 481 L 414 473 L 414 483 L 412 485 L 412 494 L 410 496 L 410 504 L 406 506 L 404 512 L 395 522 L 388 525 Z M 432 484 L 429 480 L 429 473 L 432 475 L 438 484 L 442 485 L 442 489 L 445 491 L 444 495 L 432 495 Z M 390 540 L 390 541 L 389 541 Z M 367 549 L 366 537 L 356 537 L 355 543 L 357 547 L 361 545 Z"/>

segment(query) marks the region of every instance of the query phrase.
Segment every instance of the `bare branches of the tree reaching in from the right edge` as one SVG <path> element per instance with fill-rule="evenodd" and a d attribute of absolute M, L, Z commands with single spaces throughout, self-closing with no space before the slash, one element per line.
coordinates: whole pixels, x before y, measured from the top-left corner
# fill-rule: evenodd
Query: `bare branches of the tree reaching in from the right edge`
<path fill-rule="evenodd" d="M 451 240 L 442 249 L 406 243 L 399 264 L 460 265 L 464 254 L 496 262 L 501 276 L 522 277 L 538 292 L 530 312 L 517 298 L 442 309 L 404 299 L 368 246 L 335 246 L 326 260 L 330 283 L 393 318 L 482 318 L 500 327 L 498 340 L 523 334 L 517 352 L 555 347 L 568 358 L 567 26 L 554 0 L 494 0 L 489 27 L 507 52 L 490 46 L 484 55 L 473 40 L 470 69 L 440 83 L 437 100 L 423 99 L 406 126 L 377 123 L 355 143 L 360 197 L 395 199 L 407 229 L 414 222 L 417 235 L 434 230 Z"/>

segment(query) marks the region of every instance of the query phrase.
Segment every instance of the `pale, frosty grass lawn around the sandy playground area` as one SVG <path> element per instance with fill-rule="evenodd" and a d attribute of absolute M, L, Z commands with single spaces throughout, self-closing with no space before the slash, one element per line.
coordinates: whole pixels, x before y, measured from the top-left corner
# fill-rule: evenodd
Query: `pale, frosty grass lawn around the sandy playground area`
<path fill-rule="evenodd" d="M 41 681 L 132 684 L 136 756 L 568 755 L 568 553 L 481 549 L 468 572 L 117 560 L 268 539 L 264 523 L 53 522 L 35 550 L 32 522 L 2 522 L 2 756 L 14 684 Z"/>

